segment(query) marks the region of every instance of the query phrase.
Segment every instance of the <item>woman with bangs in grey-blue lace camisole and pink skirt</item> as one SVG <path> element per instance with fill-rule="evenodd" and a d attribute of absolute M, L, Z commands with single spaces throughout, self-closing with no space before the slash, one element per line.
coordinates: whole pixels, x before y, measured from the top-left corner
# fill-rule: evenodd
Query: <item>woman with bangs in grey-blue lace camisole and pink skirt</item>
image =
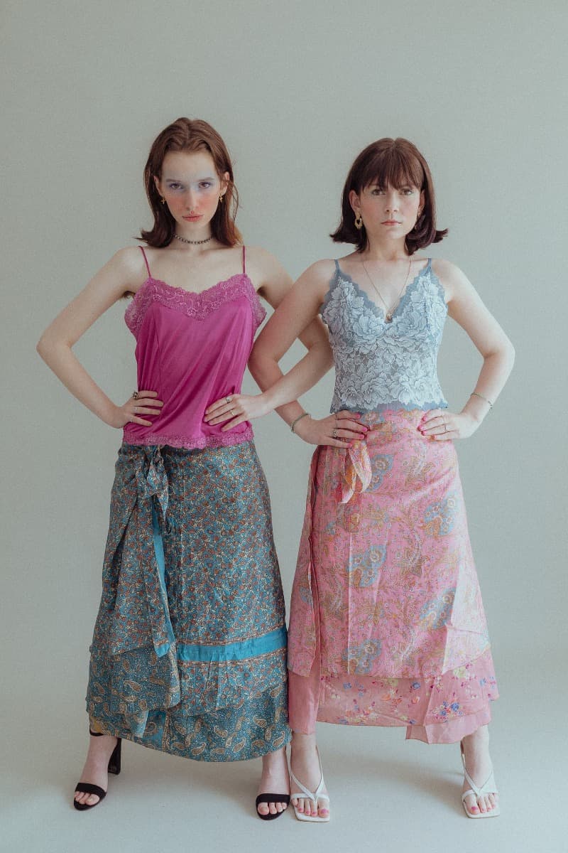
<path fill-rule="evenodd" d="M 499 814 L 487 728 L 497 689 L 453 441 L 478 429 L 514 352 L 461 270 L 416 256 L 446 233 L 422 154 L 404 139 L 373 142 L 349 171 L 332 235 L 355 250 L 306 270 L 250 357 L 268 388 L 318 313 L 329 327 L 334 421 L 325 442 L 322 421 L 295 422 L 328 445 L 313 456 L 290 607 L 291 797 L 303 821 L 330 819 L 316 720 L 459 741 L 466 814 Z M 447 314 L 483 357 L 459 412 L 436 374 Z M 270 394 L 238 397 L 244 416 Z M 363 438 L 345 428 L 347 410 Z"/>

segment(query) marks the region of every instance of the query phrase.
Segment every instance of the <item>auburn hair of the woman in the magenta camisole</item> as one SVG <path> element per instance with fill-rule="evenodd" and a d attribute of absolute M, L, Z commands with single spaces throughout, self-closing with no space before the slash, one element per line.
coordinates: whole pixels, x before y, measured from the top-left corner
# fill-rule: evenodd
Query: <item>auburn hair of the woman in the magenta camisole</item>
<path fill-rule="evenodd" d="M 154 177 L 162 177 L 162 165 L 164 157 L 169 151 L 209 151 L 217 175 L 221 178 L 226 171 L 229 173 L 227 192 L 222 202 L 217 206 L 215 215 L 211 220 L 211 231 L 215 240 L 223 246 L 235 246 L 242 242 L 241 235 L 235 225 L 235 217 L 238 208 L 238 193 L 232 175 L 232 163 L 225 142 L 211 125 L 201 119 L 176 119 L 158 134 L 144 169 L 144 185 L 146 195 L 152 213 L 154 215 L 154 227 L 149 231 L 141 230 L 139 240 L 144 240 L 148 246 L 161 249 L 169 246 L 174 239 L 175 219 L 163 205 L 158 193 L 158 187 Z"/>

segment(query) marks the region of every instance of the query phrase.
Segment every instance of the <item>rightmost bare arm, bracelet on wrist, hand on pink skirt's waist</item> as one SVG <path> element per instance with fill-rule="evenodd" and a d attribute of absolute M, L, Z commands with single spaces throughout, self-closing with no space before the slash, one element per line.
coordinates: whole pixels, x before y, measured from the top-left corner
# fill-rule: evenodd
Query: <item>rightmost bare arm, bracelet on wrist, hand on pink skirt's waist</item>
<path fill-rule="evenodd" d="M 440 410 L 433 409 L 423 419 L 428 425 L 424 432 L 439 439 L 467 438 L 479 427 L 491 409 L 490 403 L 495 403 L 502 392 L 513 369 L 514 348 L 462 270 L 449 261 L 434 261 L 433 270 L 445 287 L 450 317 L 467 332 L 483 357 L 483 365 L 473 388 L 475 393 L 468 397 L 462 411 L 457 415 L 447 413 L 448 429 L 436 432 L 440 430 Z"/>

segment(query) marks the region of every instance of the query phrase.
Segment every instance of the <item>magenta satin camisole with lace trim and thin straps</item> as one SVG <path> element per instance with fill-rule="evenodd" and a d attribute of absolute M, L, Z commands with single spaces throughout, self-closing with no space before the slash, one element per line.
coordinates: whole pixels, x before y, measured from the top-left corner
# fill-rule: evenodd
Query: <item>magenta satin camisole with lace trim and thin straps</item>
<path fill-rule="evenodd" d="M 158 392 L 164 409 L 143 415 L 151 427 L 128 423 L 127 444 L 168 444 L 187 449 L 240 444 L 253 438 L 247 421 L 221 432 L 204 421 L 205 409 L 238 394 L 256 329 L 266 316 L 243 271 L 203 293 L 171 287 L 148 277 L 126 309 L 124 320 L 136 339 L 138 388 Z"/>

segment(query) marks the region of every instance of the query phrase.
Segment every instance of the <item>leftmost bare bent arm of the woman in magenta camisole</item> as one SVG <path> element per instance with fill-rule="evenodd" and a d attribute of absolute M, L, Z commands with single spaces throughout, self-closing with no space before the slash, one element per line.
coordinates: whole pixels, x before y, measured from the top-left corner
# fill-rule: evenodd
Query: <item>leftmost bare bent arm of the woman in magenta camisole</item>
<path fill-rule="evenodd" d="M 140 251 L 127 248 L 117 252 L 55 317 L 37 344 L 37 352 L 43 361 L 73 396 L 111 427 L 123 427 L 128 421 L 151 426 L 152 421 L 135 415 L 134 403 L 130 401 L 123 406 L 112 403 L 83 368 L 72 347 L 123 293 L 136 291 L 144 278 L 144 259 Z M 141 392 L 141 399 L 135 401 L 138 414 L 158 415 L 162 403 L 155 399 L 157 396 L 156 392 Z"/>

